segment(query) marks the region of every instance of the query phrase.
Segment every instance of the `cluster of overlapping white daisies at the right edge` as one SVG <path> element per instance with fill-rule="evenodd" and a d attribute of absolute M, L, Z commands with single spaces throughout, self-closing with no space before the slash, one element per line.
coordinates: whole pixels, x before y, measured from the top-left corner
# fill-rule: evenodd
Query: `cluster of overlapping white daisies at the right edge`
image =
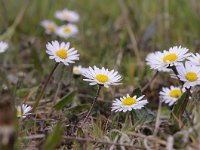
<path fill-rule="evenodd" d="M 163 87 L 160 92 L 160 99 L 169 106 L 186 90 L 200 85 L 200 54 L 192 54 L 187 48 L 174 46 L 163 52 L 156 51 L 150 53 L 146 61 L 151 69 L 170 72 L 171 77 L 181 81 L 181 86 Z"/>

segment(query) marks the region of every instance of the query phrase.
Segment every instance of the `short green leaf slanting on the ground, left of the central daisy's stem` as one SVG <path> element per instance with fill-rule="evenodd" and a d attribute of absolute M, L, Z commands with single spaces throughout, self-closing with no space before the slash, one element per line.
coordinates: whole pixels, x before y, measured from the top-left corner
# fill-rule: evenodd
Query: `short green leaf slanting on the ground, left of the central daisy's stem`
<path fill-rule="evenodd" d="M 54 108 L 55 110 L 61 110 L 62 108 L 64 108 L 67 104 L 71 103 L 74 96 L 75 96 L 76 92 L 75 91 L 72 91 L 70 92 L 69 94 L 65 95 L 64 97 L 62 97 L 60 99 L 59 102 L 57 102 L 55 105 L 54 105 Z"/>

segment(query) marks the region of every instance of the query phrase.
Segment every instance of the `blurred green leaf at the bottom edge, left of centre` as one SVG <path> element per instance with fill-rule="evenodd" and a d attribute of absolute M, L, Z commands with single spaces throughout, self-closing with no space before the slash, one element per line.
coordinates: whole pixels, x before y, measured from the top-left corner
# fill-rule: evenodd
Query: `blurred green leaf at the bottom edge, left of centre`
<path fill-rule="evenodd" d="M 63 131 L 64 129 L 61 123 L 58 123 L 54 128 L 53 132 L 47 137 L 46 142 L 44 144 L 44 149 L 54 150 L 62 139 Z"/>

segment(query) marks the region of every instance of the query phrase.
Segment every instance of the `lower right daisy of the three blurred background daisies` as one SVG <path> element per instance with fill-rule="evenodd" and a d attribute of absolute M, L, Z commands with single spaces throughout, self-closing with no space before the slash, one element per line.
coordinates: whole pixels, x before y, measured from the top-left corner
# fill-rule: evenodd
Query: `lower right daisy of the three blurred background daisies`
<path fill-rule="evenodd" d="M 78 28 L 74 24 L 63 25 L 58 27 L 56 30 L 56 34 L 63 38 L 73 37 L 78 33 Z"/>

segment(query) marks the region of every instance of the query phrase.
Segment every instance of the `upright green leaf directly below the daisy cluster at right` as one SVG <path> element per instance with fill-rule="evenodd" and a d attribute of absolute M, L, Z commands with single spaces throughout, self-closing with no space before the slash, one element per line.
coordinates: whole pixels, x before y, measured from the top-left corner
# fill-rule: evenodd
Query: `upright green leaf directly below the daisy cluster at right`
<path fill-rule="evenodd" d="M 186 109 L 188 100 L 189 100 L 190 91 L 187 90 L 183 95 L 178 99 L 177 103 L 174 105 L 174 108 L 171 112 L 170 122 L 175 123 L 181 121 L 181 117 Z"/>

